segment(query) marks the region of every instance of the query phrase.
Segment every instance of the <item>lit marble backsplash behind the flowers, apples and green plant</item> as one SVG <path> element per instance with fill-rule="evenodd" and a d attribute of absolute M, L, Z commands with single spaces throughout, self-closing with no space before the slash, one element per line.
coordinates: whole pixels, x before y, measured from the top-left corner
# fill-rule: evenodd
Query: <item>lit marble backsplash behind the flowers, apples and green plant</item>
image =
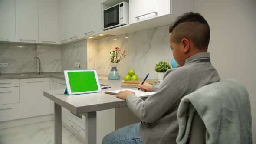
<path fill-rule="evenodd" d="M 128 38 L 125 38 L 126 36 Z M 169 26 L 99 39 L 98 47 L 88 46 L 88 68 L 97 69 L 100 75 L 108 75 L 111 69 L 109 51 L 115 47 L 121 48 L 121 51 L 125 50 L 126 54 L 126 58 L 117 66 L 121 76 L 125 76 L 128 69 L 134 69 L 139 78 L 144 78 L 150 73 L 149 79 L 156 79 L 156 63 L 161 60 L 171 63 Z"/>

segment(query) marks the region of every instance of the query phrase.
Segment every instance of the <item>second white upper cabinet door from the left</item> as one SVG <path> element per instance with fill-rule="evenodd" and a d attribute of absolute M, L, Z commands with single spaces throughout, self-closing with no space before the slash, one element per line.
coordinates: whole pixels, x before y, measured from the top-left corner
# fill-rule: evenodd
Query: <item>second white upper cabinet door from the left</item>
<path fill-rule="evenodd" d="M 15 0 L 16 41 L 38 43 L 38 1 Z"/>

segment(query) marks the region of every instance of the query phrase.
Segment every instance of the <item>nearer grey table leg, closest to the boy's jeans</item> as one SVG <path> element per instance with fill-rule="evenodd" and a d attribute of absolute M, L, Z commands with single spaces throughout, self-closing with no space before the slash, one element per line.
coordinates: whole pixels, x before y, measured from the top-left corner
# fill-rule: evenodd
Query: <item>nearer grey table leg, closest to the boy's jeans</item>
<path fill-rule="evenodd" d="M 96 111 L 88 112 L 86 117 L 86 141 L 87 144 L 96 144 L 97 114 Z"/>

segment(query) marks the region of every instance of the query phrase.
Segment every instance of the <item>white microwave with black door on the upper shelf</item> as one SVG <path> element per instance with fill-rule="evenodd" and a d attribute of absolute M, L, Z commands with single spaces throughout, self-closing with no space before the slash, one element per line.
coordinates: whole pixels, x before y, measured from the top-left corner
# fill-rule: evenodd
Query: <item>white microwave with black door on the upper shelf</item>
<path fill-rule="evenodd" d="M 121 2 L 103 10 L 103 30 L 129 23 L 129 3 Z"/>

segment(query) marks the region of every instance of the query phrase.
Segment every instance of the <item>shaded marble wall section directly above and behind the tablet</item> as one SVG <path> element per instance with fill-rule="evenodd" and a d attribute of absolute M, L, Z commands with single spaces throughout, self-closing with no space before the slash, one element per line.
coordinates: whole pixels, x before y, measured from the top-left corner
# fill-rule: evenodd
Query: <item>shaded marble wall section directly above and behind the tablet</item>
<path fill-rule="evenodd" d="M 80 62 L 80 69 L 87 69 L 87 40 L 61 46 L 62 70 L 78 69 L 75 62 Z"/>

